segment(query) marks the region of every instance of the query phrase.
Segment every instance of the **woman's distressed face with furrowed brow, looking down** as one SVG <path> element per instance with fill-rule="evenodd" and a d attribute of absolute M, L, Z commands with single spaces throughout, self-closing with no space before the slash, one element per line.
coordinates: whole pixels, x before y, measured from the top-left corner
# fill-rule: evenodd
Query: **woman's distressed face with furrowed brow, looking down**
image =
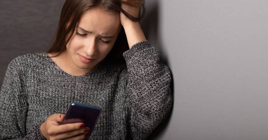
<path fill-rule="evenodd" d="M 88 72 L 102 61 L 112 49 L 121 28 L 120 16 L 93 8 L 76 24 L 72 38 L 66 45 L 69 67 Z M 94 60 L 85 60 L 83 57 Z"/>

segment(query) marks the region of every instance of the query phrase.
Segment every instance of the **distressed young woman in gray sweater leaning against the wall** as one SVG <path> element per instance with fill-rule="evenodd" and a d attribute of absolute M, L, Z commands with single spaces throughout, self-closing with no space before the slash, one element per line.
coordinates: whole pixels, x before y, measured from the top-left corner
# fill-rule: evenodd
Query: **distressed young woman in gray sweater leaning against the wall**
<path fill-rule="evenodd" d="M 83 123 L 60 125 L 71 102 L 103 109 L 90 139 L 146 139 L 167 118 L 173 96 L 170 71 L 139 24 L 143 3 L 66 0 L 48 52 L 8 65 L 0 139 L 88 137 Z"/>

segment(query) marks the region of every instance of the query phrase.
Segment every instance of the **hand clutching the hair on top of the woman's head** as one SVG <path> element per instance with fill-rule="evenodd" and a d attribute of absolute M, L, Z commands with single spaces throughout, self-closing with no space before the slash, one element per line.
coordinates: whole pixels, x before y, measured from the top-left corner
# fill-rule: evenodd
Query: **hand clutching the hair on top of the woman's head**
<path fill-rule="evenodd" d="M 139 12 L 141 9 L 141 5 L 142 5 L 142 0 L 123 0 L 123 1 L 135 3 L 135 5 L 139 6 L 139 8 L 136 8 L 136 7 L 133 7 L 130 5 L 126 5 L 126 4 L 121 5 L 122 9 L 125 10 L 129 15 L 138 18 Z M 121 22 L 122 26 L 125 26 L 126 24 L 134 22 L 134 21 L 130 20 L 122 12 L 120 12 L 120 22 Z"/>

